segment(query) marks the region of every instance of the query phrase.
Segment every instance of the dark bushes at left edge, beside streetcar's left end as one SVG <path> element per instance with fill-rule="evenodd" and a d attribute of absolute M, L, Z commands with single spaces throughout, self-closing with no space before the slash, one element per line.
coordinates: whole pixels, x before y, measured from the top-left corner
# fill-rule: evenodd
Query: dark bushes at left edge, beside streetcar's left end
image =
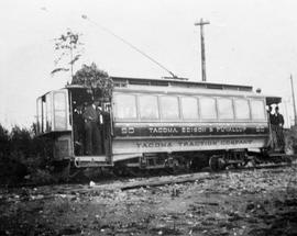
<path fill-rule="evenodd" d="M 0 183 L 16 184 L 30 176 L 34 183 L 50 182 L 51 142 L 40 138 L 31 128 L 13 126 L 11 132 L 0 124 Z"/>

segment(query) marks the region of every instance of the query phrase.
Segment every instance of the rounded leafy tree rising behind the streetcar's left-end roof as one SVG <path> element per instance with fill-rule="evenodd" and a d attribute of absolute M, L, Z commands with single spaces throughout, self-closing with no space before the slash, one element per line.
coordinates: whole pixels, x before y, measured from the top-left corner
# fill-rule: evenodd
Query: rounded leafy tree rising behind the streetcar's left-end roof
<path fill-rule="evenodd" d="M 98 69 L 92 63 L 90 66 L 82 65 L 81 69 L 77 70 L 73 77 L 72 85 L 80 85 L 89 88 L 94 97 L 111 98 L 113 82 L 109 75 Z"/>

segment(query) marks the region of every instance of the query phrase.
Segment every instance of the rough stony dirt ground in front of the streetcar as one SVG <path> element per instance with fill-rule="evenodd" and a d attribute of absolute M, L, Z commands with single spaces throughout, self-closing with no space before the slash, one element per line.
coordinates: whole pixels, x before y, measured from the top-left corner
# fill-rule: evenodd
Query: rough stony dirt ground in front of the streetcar
<path fill-rule="evenodd" d="M 297 168 L 1 189 L 0 235 L 297 235 Z"/>

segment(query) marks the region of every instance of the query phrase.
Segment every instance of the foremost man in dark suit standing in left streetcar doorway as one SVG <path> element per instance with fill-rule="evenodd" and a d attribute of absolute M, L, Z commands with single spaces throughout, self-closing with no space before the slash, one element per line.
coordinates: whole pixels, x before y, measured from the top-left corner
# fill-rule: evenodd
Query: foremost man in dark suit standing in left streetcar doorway
<path fill-rule="evenodd" d="M 101 135 L 100 135 L 100 110 L 98 105 L 100 102 L 94 100 L 88 105 L 82 114 L 86 131 L 86 154 L 100 155 L 101 150 Z"/>

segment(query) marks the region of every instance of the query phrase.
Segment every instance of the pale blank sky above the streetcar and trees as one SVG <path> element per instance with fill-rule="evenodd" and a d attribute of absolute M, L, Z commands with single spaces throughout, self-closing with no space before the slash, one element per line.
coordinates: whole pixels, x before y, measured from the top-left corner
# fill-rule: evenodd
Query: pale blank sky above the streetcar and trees
<path fill-rule="evenodd" d="M 201 18 L 210 22 L 205 26 L 207 81 L 283 97 L 280 112 L 292 122 L 296 9 L 295 0 L 1 0 L 0 123 L 30 126 L 36 98 L 70 80 L 67 72 L 51 76 L 54 38 L 67 29 L 81 34 L 85 48 L 75 71 L 94 61 L 110 76 L 169 76 L 103 26 L 175 75 L 200 81 L 200 32 L 194 24 Z"/>

